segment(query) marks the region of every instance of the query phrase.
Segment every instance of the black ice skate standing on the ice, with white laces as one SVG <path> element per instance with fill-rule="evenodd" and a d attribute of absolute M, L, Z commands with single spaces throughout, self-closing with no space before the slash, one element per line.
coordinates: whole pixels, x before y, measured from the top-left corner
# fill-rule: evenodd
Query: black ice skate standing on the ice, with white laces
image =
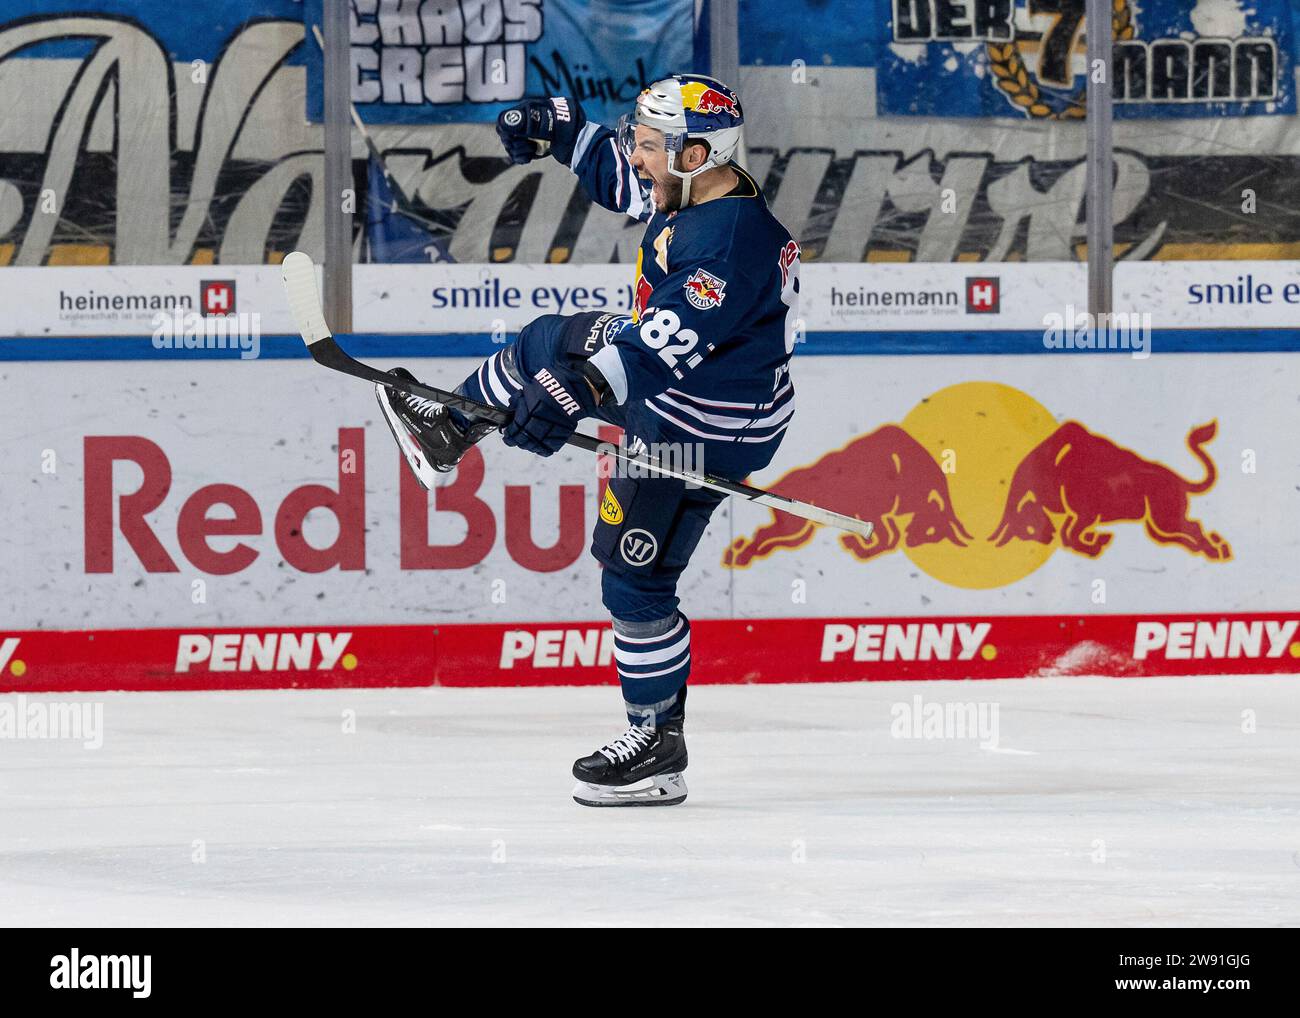
<path fill-rule="evenodd" d="M 676 806 L 686 800 L 686 738 L 681 719 L 632 725 L 573 763 L 573 801 L 584 806 Z"/>

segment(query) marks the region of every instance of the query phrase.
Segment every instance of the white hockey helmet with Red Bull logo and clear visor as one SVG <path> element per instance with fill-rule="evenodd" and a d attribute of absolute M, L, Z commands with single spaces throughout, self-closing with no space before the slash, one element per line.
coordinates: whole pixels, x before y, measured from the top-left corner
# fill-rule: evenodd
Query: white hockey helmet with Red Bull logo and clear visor
<path fill-rule="evenodd" d="M 663 131 L 668 172 L 681 181 L 681 207 L 690 202 L 690 181 L 715 166 L 725 166 L 741 143 L 745 114 L 736 92 L 703 74 L 660 78 L 637 96 L 636 109 L 619 118 L 619 146 L 632 153 L 637 125 Z M 708 144 L 708 159 L 694 170 L 677 164 L 688 140 Z"/>

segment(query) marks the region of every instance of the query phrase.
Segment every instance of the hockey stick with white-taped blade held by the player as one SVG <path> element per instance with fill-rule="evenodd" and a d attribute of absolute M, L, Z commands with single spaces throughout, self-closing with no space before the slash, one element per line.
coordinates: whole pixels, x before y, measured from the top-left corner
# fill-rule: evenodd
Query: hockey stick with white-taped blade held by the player
<path fill-rule="evenodd" d="M 298 325 L 298 330 L 303 334 L 303 342 L 307 343 L 307 348 L 317 364 L 343 372 L 344 374 L 351 374 L 355 378 L 365 378 L 369 382 L 386 385 L 389 389 L 396 389 L 399 393 L 434 399 L 459 410 L 462 413 L 482 417 L 497 425 L 504 425 L 510 420 L 510 415 L 498 407 L 480 403 L 476 399 L 469 399 L 456 393 L 447 393 L 442 389 L 421 385 L 420 382 L 408 382 L 348 356 L 343 347 L 334 341 L 329 325 L 325 322 L 320 293 L 316 289 L 316 267 L 312 264 L 311 257 L 302 251 L 294 251 L 285 257 L 282 272 L 285 293 L 289 296 L 289 309 L 294 316 L 294 324 Z M 785 495 L 779 495 L 775 491 L 764 491 L 762 488 L 750 488 L 748 484 L 729 481 L 725 477 L 680 471 L 666 463 L 660 463 L 653 456 L 632 455 L 620 446 L 602 442 L 589 434 L 576 433 L 569 437 L 568 445 L 576 449 L 585 449 L 588 452 L 595 452 L 597 455 L 614 456 L 623 464 L 634 463 L 640 469 L 651 473 L 676 477 L 679 481 L 685 481 L 690 485 L 708 488 L 712 491 L 722 491 L 727 495 L 757 502 L 759 506 L 780 510 L 781 512 L 788 512 L 792 516 L 800 516 L 824 527 L 835 527 L 863 538 L 871 537 L 871 523 L 867 520 L 858 520 L 853 516 L 833 512 L 832 510 L 824 510 L 820 506 L 785 498 Z"/>

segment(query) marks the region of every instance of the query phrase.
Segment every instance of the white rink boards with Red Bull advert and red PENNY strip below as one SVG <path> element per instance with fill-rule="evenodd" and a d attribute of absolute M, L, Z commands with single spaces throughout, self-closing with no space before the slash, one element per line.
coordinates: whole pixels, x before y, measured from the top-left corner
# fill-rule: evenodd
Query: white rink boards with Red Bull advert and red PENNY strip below
<path fill-rule="evenodd" d="M 680 590 L 698 681 L 1300 670 L 1294 354 L 818 342 L 751 481 L 876 538 L 724 504 Z M 3 688 L 611 679 L 590 456 L 489 439 L 426 495 L 309 361 L 70 367 L 4 365 Z"/>

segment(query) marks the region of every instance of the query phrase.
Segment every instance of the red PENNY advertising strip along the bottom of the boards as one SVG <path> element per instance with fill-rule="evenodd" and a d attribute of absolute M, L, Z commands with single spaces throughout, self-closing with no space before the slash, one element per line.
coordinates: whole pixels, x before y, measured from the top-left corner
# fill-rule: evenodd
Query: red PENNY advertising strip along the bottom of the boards
<path fill-rule="evenodd" d="M 693 683 L 1287 673 L 1300 614 L 705 619 Z M 607 623 L 23 632 L 3 692 L 540 686 L 614 681 Z"/>

